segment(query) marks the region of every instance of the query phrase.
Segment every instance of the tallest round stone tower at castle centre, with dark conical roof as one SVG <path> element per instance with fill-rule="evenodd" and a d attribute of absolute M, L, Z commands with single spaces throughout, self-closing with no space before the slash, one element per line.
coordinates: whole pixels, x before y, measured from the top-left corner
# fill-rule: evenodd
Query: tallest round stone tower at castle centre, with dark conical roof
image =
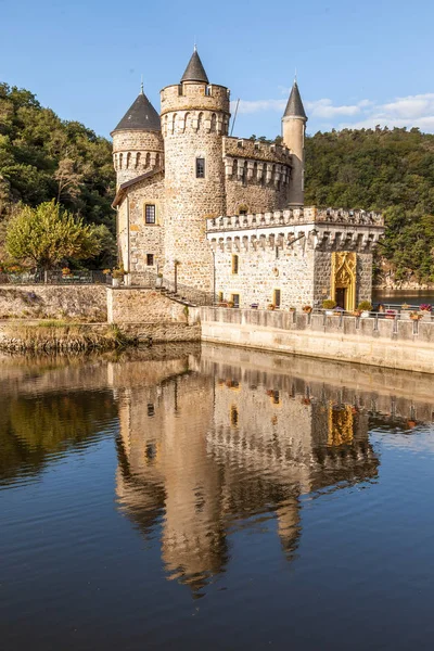
<path fill-rule="evenodd" d="M 206 217 L 225 215 L 222 137 L 229 90 L 210 85 L 194 49 L 180 84 L 161 91 L 165 150 L 165 269 L 178 283 L 213 290 Z"/>

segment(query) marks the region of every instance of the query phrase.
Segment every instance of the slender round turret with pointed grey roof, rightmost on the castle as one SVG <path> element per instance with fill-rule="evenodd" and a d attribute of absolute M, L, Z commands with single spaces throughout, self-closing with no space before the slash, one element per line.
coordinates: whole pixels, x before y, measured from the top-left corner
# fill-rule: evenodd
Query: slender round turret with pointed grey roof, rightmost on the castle
<path fill-rule="evenodd" d="M 305 113 L 297 82 L 294 81 L 290 99 L 282 117 L 282 137 L 292 154 L 292 175 L 289 202 L 292 206 L 303 206 L 305 195 Z"/>

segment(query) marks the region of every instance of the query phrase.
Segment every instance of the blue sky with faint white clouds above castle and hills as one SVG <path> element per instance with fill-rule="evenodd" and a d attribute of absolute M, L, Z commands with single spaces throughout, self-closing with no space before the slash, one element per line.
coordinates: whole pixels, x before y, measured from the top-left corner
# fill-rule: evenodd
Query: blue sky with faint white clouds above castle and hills
<path fill-rule="evenodd" d="M 241 99 L 234 135 L 273 137 L 297 69 L 308 132 L 434 132 L 432 0 L 0 0 L 0 80 L 108 136 L 140 90 L 159 108 L 194 38 L 212 82 Z"/>

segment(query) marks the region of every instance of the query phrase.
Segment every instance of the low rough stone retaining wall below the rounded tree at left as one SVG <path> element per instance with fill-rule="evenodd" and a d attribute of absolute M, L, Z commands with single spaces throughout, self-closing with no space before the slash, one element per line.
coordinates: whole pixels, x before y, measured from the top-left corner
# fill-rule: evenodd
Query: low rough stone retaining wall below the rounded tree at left
<path fill-rule="evenodd" d="M 107 320 L 105 285 L 0 285 L 0 319 Z"/>

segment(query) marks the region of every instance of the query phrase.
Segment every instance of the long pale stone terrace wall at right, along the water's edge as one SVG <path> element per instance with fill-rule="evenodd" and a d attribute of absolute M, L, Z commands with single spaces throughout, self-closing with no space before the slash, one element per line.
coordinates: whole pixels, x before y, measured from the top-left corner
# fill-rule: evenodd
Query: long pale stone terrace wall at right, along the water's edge
<path fill-rule="evenodd" d="M 200 308 L 202 340 L 434 373 L 434 322 Z"/>

